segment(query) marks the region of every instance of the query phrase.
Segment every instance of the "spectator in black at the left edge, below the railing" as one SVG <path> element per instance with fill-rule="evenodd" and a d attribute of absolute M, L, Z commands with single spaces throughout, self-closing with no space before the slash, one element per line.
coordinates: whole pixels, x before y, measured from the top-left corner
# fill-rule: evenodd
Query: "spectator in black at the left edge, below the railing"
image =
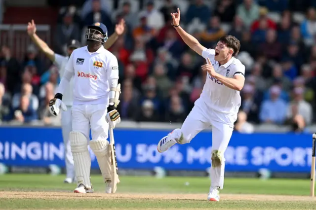
<path fill-rule="evenodd" d="M 6 67 L 4 84 L 6 91 L 13 94 L 15 86 L 21 82 L 21 65 L 12 56 L 10 48 L 6 45 L 1 46 L 0 61 L 1 63 L 4 62 Z"/>

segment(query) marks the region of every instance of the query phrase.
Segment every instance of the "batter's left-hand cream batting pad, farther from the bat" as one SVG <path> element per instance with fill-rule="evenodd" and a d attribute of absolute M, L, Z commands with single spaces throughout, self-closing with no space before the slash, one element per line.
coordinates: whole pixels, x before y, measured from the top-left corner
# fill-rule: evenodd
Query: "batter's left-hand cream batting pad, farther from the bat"
<path fill-rule="evenodd" d="M 91 189 L 91 158 L 88 151 L 88 141 L 83 134 L 74 131 L 70 132 L 69 140 L 74 158 L 77 184 L 83 184 L 87 189 Z"/>

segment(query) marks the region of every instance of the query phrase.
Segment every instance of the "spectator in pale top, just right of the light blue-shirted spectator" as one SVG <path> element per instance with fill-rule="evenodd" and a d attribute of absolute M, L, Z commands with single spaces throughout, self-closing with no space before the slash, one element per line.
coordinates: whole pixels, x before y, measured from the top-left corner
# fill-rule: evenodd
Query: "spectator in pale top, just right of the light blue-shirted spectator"
<path fill-rule="evenodd" d="M 293 119 L 296 115 L 301 115 L 306 125 L 310 125 L 313 120 L 313 108 L 304 100 L 304 89 L 296 87 L 293 90 L 293 101 L 287 110 L 287 118 Z"/>

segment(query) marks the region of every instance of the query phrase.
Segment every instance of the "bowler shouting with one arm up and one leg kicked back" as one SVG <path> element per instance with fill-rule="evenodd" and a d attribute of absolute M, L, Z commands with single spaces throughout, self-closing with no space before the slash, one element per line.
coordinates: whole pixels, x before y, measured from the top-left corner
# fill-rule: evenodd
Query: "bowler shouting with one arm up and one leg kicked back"
<path fill-rule="evenodd" d="M 240 48 L 239 40 L 231 35 L 221 37 L 214 49 L 206 49 L 181 26 L 180 10 L 171 14 L 173 27 L 184 42 L 205 58 L 207 71 L 203 91 L 184 121 L 158 142 L 158 151 L 164 152 L 176 143 L 189 143 L 200 131 L 212 126 L 211 186 L 207 199 L 219 201 L 219 189 L 224 184 L 224 152 L 231 139 L 234 122 L 240 106 L 239 91 L 244 85 L 245 67 L 234 56 Z"/>

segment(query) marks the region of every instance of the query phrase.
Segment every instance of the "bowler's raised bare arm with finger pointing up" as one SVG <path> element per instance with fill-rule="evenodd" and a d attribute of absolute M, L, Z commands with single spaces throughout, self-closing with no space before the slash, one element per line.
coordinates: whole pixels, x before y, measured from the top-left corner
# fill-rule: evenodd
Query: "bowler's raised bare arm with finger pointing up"
<path fill-rule="evenodd" d="M 182 27 L 179 25 L 180 24 L 180 9 L 178 8 L 178 12 L 171 13 L 172 16 L 172 24 L 173 27 L 177 30 L 178 34 L 181 36 L 183 41 L 194 51 L 196 51 L 197 54 L 202 55 L 203 50 L 206 48 L 202 46 L 197 39 L 193 36 L 188 34 Z"/>

